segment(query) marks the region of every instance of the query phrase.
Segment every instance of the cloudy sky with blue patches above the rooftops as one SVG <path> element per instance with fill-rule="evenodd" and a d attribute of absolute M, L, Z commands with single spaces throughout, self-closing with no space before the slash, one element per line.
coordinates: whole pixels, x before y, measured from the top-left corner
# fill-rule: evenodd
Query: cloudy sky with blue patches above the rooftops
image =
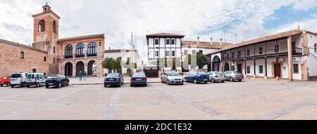
<path fill-rule="evenodd" d="M 317 32 L 317 0 L 0 0 L 0 39 L 32 44 L 32 15 L 48 2 L 61 17 L 59 37 L 105 34 L 105 46 L 146 57 L 146 34 L 235 43 L 290 29 Z"/>

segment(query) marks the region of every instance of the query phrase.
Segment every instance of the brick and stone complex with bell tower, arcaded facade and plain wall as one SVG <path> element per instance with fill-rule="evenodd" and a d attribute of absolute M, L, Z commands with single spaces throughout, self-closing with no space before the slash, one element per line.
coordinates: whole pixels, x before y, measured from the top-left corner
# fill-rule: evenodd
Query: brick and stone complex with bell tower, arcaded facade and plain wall
<path fill-rule="evenodd" d="M 59 39 L 61 19 L 49 5 L 34 18 L 32 46 L 0 39 L 0 76 L 15 72 L 42 72 L 77 76 L 80 71 L 102 76 L 104 34 Z"/>

